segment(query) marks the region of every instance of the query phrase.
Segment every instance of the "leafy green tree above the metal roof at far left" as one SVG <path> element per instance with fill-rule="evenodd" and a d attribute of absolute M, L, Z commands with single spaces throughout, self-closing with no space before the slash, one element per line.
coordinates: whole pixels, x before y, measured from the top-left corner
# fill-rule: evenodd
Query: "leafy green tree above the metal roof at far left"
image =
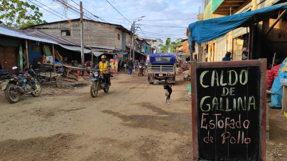
<path fill-rule="evenodd" d="M 46 23 L 40 19 L 41 17 L 43 14 L 39 12 L 39 8 L 30 5 L 27 0 L 0 0 L 0 20 L 8 27 L 21 29 Z"/>

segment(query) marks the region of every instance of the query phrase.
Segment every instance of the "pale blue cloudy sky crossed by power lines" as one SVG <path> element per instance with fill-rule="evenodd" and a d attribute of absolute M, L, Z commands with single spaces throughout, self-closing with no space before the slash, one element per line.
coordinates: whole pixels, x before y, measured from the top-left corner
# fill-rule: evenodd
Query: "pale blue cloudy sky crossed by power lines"
<path fill-rule="evenodd" d="M 138 29 L 136 33 L 138 33 L 139 37 L 141 38 L 161 38 L 163 41 L 165 41 L 167 37 L 170 37 L 172 41 L 175 41 L 177 38 L 186 38 L 186 28 L 189 24 L 197 20 L 196 15 L 199 13 L 199 6 L 202 5 L 202 0 L 108 0 L 115 7 L 115 9 L 117 9 L 126 19 L 130 21 L 129 22 L 123 16 L 121 16 L 120 13 L 118 13 L 106 0 L 82 1 L 84 14 L 87 13 L 87 15 L 92 16 L 90 14 L 92 13 L 93 15 L 100 17 L 99 19 L 92 16 L 93 20 L 120 24 L 128 30 L 131 28 L 130 22 L 133 22 L 135 18 L 145 16 L 144 18 L 141 18 L 141 21 L 136 22 L 136 24 L 140 24 L 140 29 Z M 67 2 L 78 9 L 80 8 L 77 5 L 80 4 L 80 1 L 67 0 Z M 67 16 L 65 16 L 65 14 L 63 16 L 63 7 L 52 0 L 34 0 L 33 3 L 40 6 L 37 7 L 39 7 L 40 12 L 43 13 L 42 20 L 47 22 L 80 18 L 79 14 L 77 15 L 76 13 L 72 13 L 69 10 L 67 11 Z M 30 2 L 30 4 L 33 3 Z M 90 13 L 88 13 L 86 10 Z M 153 27 L 146 25 L 165 27 Z"/>

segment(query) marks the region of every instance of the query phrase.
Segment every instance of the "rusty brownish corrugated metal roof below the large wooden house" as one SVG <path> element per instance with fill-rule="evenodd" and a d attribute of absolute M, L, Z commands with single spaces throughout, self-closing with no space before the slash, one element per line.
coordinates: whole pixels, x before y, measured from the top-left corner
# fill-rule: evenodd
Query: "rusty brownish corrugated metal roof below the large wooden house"
<path fill-rule="evenodd" d="M 27 29 L 27 30 L 20 30 L 22 32 L 25 32 L 25 33 L 28 33 L 30 35 L 34 35 L 34 36 L 37 36 L 37 37 L 41 37 L 41 38 L 48 38 L 52 41 L 55 41 L 59 44 L 65 44 L 65 45 L 73 45 L 73 46 L 78 46 L 80 47 L 81 44 L 78 44 L 74 41 L 70 41 L 70 40 L 67 40 L 65 38 L 59 38 L 55 35 L 51 35 L 49 33 L 46 33 L 46 32 L 43 32 L 41 30 L 37 30 L 37 29 Z M 88 46 L 84 45 L 85 48 L 89 48 Z"/>

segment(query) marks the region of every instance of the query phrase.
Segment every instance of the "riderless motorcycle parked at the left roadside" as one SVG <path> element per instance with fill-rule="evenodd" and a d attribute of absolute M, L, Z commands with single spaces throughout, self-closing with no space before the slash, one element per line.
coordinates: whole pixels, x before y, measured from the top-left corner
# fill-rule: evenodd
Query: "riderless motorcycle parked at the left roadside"
<path fill-rule="evenodd" d="M 17 67 L 12 69 L 17 69 Z M 0 81 L 1 91 L 4 91 L 5 98 L 10 103 L 18 102 L 20 95 L 31 94 L 34 97 L 41 95 L 41 84 L 34 80 L 29 71 L 21 72 L 18 76 L 5 73 L 1 74 L 0 78 L 2 79 Z"/>

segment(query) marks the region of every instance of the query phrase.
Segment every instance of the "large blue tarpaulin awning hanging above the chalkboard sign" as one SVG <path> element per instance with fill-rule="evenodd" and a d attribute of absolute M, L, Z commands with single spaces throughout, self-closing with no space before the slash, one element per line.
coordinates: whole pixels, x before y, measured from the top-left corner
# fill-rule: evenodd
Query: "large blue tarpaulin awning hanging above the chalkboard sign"
<path fill-rule="evenodd" d="M 201 44 L 202 42 L 214 40 L 236 28 L 247 27 L 271 16 L 277 16 L 278 12 L 283 10 L 287 10 L 287 3 L 220 18 L 196 21 L 188 26 L 190 30 L 188 36 L 190 50 L 194 52 L 195 42 Z"/>

